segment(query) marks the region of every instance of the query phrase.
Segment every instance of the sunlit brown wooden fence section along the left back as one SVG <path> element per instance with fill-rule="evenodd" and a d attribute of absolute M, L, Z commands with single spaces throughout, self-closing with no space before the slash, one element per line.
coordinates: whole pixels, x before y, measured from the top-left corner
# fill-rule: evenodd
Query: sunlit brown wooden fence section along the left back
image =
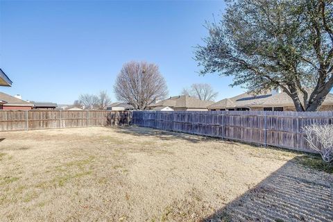
<path fill-rule="evenodd" d="M 0 131 L 130 125 L 132 113 L 104 110 L 1 110 Z"/>

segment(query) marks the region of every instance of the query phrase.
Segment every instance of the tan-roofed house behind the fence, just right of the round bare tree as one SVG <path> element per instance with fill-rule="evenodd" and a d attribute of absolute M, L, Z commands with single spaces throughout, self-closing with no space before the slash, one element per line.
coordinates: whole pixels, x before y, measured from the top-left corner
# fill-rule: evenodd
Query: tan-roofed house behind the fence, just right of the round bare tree
<path fill-rule="evenodd" d="M 207 106 L 213 103 L 213 101 L 202 101 L 191 96 L 173 96 L 149 105 L 149 110 L 169 107 L 175 111 L 207 111 Z"/>

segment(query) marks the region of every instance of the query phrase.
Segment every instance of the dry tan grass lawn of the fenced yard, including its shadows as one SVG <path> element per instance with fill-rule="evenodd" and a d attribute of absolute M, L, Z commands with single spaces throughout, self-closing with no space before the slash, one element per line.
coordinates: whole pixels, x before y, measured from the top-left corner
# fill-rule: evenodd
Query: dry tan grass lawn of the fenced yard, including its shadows
<path fill-rule="evenodd" d="M 317 155 L 139 127 L 0 135 L 0 221 L 332 221 Z"/>

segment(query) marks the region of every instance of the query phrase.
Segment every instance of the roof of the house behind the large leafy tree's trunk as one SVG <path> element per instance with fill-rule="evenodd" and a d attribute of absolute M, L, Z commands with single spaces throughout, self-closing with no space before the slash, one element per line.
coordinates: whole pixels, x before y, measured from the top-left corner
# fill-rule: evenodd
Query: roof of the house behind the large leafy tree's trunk
<path fill-rule="evenodd" d="M 288 96 L 287 93 L 281 92 L 278 94 L 240 94 L 238 96 L 234 96 L 230 98 L 228 103 L 223 99 L 210 105 L 209 109 L 225 109 L 232 108 L 232 106 L 228 106 L 229 104 L 234 103 L 234 107 L 236 108 L 251 108 L 251 107 L 277 107 L 277 106 L 293 106 L 293 100 Z M 302 101 L 302 96 L 300 96 L 300 100 Z M 333 94 L 327 94 L 323 105 L 333 105 Z"/>

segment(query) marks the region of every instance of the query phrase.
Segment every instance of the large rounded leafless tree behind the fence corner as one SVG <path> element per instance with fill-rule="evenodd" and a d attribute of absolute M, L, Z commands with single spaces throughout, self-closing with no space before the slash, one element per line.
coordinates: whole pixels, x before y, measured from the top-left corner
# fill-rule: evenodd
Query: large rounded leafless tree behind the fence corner
<path fill-rule="evenodd" d="M 114 94 L 119 101 L 133 105 L 135 110 L 146 110 L 151 103 L 164 99 L 168 89 L 157 65 L 128 62 L 117 76 Z"/>

